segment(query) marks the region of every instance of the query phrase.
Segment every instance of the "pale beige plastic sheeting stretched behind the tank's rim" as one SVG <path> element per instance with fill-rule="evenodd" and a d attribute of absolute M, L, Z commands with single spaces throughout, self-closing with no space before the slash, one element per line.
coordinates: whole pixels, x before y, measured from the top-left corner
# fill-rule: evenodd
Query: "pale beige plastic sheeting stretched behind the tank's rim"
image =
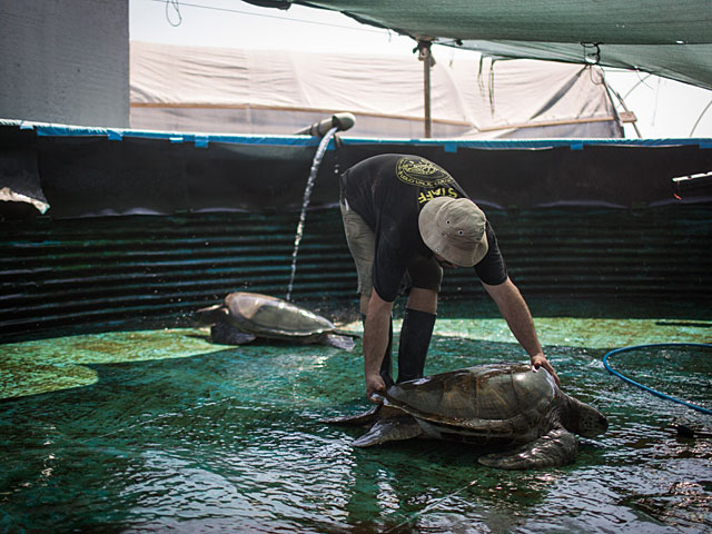
<path fill-rule="evenodd" d="M 431 88 L 434 137 L 622 137 L 596 68 L 437 61 Z M 339 111 L 356 116 L 348 135 L 422 137 L 423 63 L 131 43 L 134 128 L 293 134 Z"/>

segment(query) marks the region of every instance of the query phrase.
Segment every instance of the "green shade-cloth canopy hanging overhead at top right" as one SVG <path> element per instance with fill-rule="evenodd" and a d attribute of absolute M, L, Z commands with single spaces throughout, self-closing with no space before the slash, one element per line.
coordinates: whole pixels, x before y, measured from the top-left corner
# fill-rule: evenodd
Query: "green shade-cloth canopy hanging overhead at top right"
<path fill-rule="evenodd" d="M 259 0 L 284 7 L 285 1 Z M 293 0 L 493 57 L 644 70 L 712 89 L 710 0 Z"/>

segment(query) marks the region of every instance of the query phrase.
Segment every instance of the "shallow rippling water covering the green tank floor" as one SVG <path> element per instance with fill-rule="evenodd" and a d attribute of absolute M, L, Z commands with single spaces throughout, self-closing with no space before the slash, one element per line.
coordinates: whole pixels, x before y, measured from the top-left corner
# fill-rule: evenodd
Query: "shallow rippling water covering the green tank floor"
<path fill-rule="evenodd" d="M 502 319 L 443 308 L 427 373 L 523 359 Z M 530 472 L 443 442 L 352 447 L 362 431 L 319 418 L 368 407 L 360 344 L 220 347 L 177 328 L 0 346 L 0 531 L 709 532 L 712 443 L 670 425 L 710 432 L 712 419 L 601 360 L 627 345 L 709 343 L 712 317 L 620 308 L 533 307 L 564 389 L 611 428 L 581 439 L 575 463 Z M 710 408 L 710 358 L 670 348 L 611 364 Z"/>

